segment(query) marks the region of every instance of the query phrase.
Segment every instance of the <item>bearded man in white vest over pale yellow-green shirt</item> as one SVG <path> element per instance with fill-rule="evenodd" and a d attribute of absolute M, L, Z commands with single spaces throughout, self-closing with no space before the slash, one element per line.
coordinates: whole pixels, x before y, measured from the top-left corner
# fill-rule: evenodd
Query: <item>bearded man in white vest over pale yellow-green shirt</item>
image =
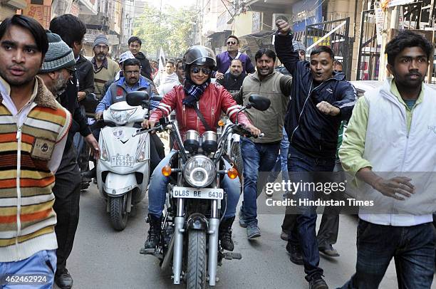
<path fill-rule="evenodd" d="M 355 175 L 356 273 L 343 288 L 378 288 L 392 258 L 399 288 L 430 288 L 435 271 L 436 92 L 423 84 L 432 44 L 401 31 L 390 41 L 393 78 L 358 100 L 339 157 Z"/>

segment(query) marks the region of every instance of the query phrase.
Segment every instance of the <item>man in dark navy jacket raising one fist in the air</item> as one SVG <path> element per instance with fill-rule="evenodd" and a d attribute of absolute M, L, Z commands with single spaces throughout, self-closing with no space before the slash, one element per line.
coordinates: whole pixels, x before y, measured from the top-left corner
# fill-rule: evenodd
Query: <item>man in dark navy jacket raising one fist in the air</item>
<path fill-rule="evenodd" d="M 292 46 L 289 23 L 278 20 L 276 26 L 276 53 L 293 77 L 284 125 L 290 143 L 288 171 L 303 172 L 299 176 L 307 177 L 306 182 L 316 182 L 304 172 L 333 172 L 338 130 L 341 121 L 351 117 L 356 101 L 355 89 L 345 80 L 346 75 L 333 72 L 331 48 L 315 48 L 311 51 L 310 62 L 300 61 L 299 53 Z M 296 196 L 313 199 L 314 192 L 299 191 Z M 317 215 L 313 207 L 308 209 L 303 208 L 292 215 L 296 221 L 286 247 L 291 253 L 291 261 L 304 265 L 309 287 L 326 289 L 323 269 L 318 266 Z"/>

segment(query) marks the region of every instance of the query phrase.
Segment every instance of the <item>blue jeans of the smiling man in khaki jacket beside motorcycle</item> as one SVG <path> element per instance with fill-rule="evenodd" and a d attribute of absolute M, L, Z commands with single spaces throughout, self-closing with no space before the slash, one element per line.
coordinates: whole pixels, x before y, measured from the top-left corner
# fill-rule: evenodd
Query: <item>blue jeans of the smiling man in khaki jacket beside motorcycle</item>
<path fill-rule="evenodd" d="M 241 154 L 244 163 L 244 202 L 241 211 L 247 225 L 257 225 L 257 196 L 266 184 L 266 177 L 261 178 L 261 183 L 257 183 L 259 172 L 271 172 L 279 149 L 279 143 L 259 144 L 241 137 Z"/>

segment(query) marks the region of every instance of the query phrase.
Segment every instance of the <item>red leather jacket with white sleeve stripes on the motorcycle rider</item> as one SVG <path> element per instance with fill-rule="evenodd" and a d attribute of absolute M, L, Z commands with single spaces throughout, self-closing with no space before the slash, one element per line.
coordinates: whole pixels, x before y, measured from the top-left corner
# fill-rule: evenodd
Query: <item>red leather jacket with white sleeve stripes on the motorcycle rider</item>
<path fill-rule="evenodd" d="M 182 136 L 187 130 L 197 130 L 199 135 L 202 135 L 206 129 L 194 108 L 185 107 L 185 105 L 183 105 L 182 100 L 184 98 L 185 91 L 183 90 L 183 86 L 175 86 L 160 102 L 160 109 L 156 109 L 152 112 L 150 120 L 157 122 L 160 117 L 170 115 L 170 112 L 175 110 L 177 123 Z M 237 111 L 241 108 L 241 105 L 237 105 L 232 95 L 230 95 L 223 86 L 217 86 L 214 83 L 210 83 L 206 90 L 204 90 L 198 103 L 199 111 L 202 112 L 204 120 L 206 120 L 207 124 L 214 131 L 217 131 L 217 125 L 222 111 L 229 116 L 232 122 L 235 122 Z M 238 122 L 242 125 L 251 124 L 243 112 L 239 113 Z"/>

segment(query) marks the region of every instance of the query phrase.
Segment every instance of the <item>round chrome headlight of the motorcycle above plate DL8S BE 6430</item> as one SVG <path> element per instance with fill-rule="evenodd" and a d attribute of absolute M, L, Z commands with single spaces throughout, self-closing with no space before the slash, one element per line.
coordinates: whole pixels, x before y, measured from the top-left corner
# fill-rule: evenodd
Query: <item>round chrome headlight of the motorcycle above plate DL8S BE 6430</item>
<path fill-rule="evenodd" d="M 217 175 L 214 162 L 204 155 L 196 155 L 187 160 L 183 177 L 190 186 L 201 188 L 209 186 Z"/>

